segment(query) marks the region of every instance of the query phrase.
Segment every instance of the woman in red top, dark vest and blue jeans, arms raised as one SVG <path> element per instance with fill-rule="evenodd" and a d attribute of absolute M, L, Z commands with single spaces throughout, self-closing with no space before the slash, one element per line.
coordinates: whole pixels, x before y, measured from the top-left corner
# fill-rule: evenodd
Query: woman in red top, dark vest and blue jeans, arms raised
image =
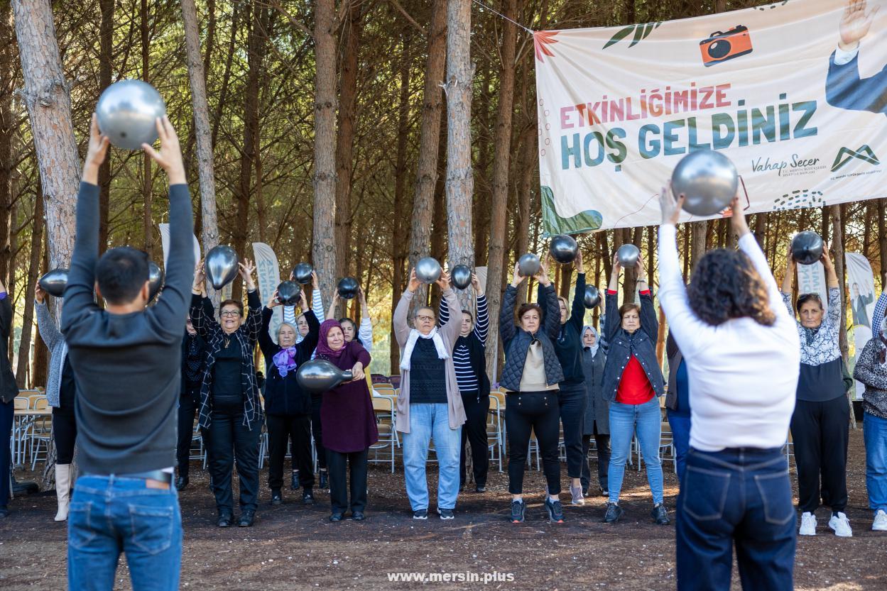
<path fill-rule="evenodd" d="M 656 362 L 656 338 L 659 321 L 653 296 L 644 276 L 644 261 L 638 258 L 640 307 L 629 303 L 619 306 L 619 271 L 622 266 L 613 257 L 613 272 L 607 290 L 607 322 L 604 334 L 609 343 L 604 365 L 604 395 L 610 400 L 609 499 L 603 521 L 616 523 L 625 510 L 619 506 L 625 463 L 632 451 L 632 437 L 640 441 L 640 453 L 647 464 L 647 480 L 653 493 L 651 515 L 658 525 L 668 525 L 668 511 L 663 502 L 663 468 L 659 461 L 662 414 L 659 396 L 664 390 L 663 373 Z"/>

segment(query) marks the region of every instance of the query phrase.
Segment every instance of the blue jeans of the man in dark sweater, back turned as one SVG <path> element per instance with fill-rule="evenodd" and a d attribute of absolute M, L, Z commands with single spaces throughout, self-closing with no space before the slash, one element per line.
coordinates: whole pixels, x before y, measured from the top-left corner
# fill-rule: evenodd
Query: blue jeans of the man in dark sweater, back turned
<path fill-rule="evenodd" d="M 176 489 L 146 488 L 138 478 L 77 478 L 67 518 L 68 587 L 110 591 L 121 552 L 134 591 L 178 588 L 182 516 Z"/>

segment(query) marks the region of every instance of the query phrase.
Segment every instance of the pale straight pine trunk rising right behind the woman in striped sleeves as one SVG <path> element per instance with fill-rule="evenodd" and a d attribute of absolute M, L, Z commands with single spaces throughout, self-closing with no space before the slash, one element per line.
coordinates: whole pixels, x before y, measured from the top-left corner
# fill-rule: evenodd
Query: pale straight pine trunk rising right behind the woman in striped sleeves
<path fill-rule="evenodd" d="M 471 0 L 447 5 L 447 158 L 446 198 L 449 256 L 452 266 L 475 266 L 471 209 L 475 178 L 471 168 Z M 467 307 L 467 293 L 460 293 Z"/>

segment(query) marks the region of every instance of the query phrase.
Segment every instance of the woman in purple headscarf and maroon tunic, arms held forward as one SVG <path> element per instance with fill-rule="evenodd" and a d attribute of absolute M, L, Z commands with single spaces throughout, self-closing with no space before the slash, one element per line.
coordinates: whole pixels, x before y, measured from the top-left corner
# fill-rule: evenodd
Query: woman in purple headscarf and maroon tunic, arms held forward
<path fill-rule="evenodd" d="M 345 342 L 341 324 L 327 320 L 320 325 L 318 359 L 350 370 L 354 379 L 323 394 L 320 423 L 323 425 L 326 467 L 330 478 L 330 521 L 341 521 L 349 509 L 346 473 L 351 477 L 351 518 L 361 521 L 366 507 L 366 463 L 370 446 L 379 440 L 370 389 L 364 369 L 370 354 L 357 339 Z M 350 464 L 350 465 L 349 465 Z"/>

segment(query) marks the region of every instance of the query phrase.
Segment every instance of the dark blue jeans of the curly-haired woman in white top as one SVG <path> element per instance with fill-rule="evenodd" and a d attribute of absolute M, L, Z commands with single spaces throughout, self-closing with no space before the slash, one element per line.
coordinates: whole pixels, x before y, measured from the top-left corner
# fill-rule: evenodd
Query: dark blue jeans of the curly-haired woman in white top
<path fill-rule="evenodd" d="M 795 507 L 781 448 L 690 449 L 678 495 L 678 589 L 793 589 Z"/>

